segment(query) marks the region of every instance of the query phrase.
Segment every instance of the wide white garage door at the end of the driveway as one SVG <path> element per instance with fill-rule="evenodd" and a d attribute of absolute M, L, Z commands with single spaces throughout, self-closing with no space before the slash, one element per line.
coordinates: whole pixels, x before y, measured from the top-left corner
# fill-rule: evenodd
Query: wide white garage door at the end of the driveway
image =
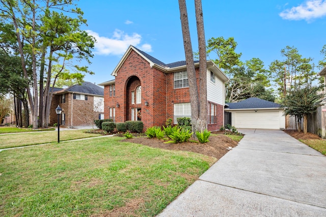
<path fill-rule="evenodd" d="M 233 112 L 232 119 L 236 128 L 280 129 L 279 111 Z"/>

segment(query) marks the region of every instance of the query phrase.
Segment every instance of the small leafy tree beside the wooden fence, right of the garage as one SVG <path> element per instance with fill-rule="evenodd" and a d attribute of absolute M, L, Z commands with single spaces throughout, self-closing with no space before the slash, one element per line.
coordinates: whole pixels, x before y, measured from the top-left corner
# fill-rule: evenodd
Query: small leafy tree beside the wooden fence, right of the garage
<path fill-rule="evenodd" d="M 309 84 L 300 88 L 297 85 L 288 92 L 283 101 L 285 115 L 295 116 L 297 120 L 304 118 L 304 133 L 307 133 L 308 114 L 315 112 L 317 107 L 321 106 L 324 101 L 325 95 L 317 93 L 320 88 L 320 86 L 311 86 Z M 301 131 L 300 125 L 298 131 Z"/>

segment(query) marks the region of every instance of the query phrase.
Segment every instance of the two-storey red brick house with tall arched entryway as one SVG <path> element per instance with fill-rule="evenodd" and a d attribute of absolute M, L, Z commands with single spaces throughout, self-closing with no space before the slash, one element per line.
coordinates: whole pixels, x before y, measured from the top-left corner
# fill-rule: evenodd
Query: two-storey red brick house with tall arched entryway
<path fill-rule="evenodd" d="M 199 63 L 195 63 L 199 73 Z M 164 64 L 147 53 L 129 46 L 114 69 L 114 80 L 104 86 L 104 118 L 116 122 L 142 120 L 144 129 L 162 126 L 168 118 L 191 117 L 185 61 Z M 207 61 L 207 129 L 223 126 L 227 76 Z"/>

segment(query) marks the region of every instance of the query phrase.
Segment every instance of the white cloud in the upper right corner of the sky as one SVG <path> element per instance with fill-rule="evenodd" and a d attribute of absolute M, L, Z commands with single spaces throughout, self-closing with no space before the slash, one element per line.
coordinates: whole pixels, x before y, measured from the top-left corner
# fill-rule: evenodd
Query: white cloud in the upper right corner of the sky
<path fill-rule="evenodd" d="M 288 20 L 306 20 L 326 16 L 326 1 L 308 0 L 297 7 L 286 9 L 279 14 L 283 19 Z"/>

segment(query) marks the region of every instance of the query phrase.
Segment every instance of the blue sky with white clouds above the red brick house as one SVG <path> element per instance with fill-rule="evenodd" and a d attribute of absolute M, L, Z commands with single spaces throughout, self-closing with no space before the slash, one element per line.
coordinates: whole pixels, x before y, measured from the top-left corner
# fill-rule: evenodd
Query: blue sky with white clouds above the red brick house
<path fill-rule="evenodd" d="M 186 1 L 194 51 L 198 50 L 194 1 Z M 129 45 L 168 64 L 185 60 L 177 0 L 80 0 L 97 43 L 85 81 L 101 83 L 111 76 Z M 241 60 L 260 58 L 268 68 L 282 60 L 281 49 L 294 46 L 317 63 L 326 44 L 326 0 L 202 0 L 206 41 L 234 37 Z M 212 56 L 213 57 L 213 56 Z"/>

